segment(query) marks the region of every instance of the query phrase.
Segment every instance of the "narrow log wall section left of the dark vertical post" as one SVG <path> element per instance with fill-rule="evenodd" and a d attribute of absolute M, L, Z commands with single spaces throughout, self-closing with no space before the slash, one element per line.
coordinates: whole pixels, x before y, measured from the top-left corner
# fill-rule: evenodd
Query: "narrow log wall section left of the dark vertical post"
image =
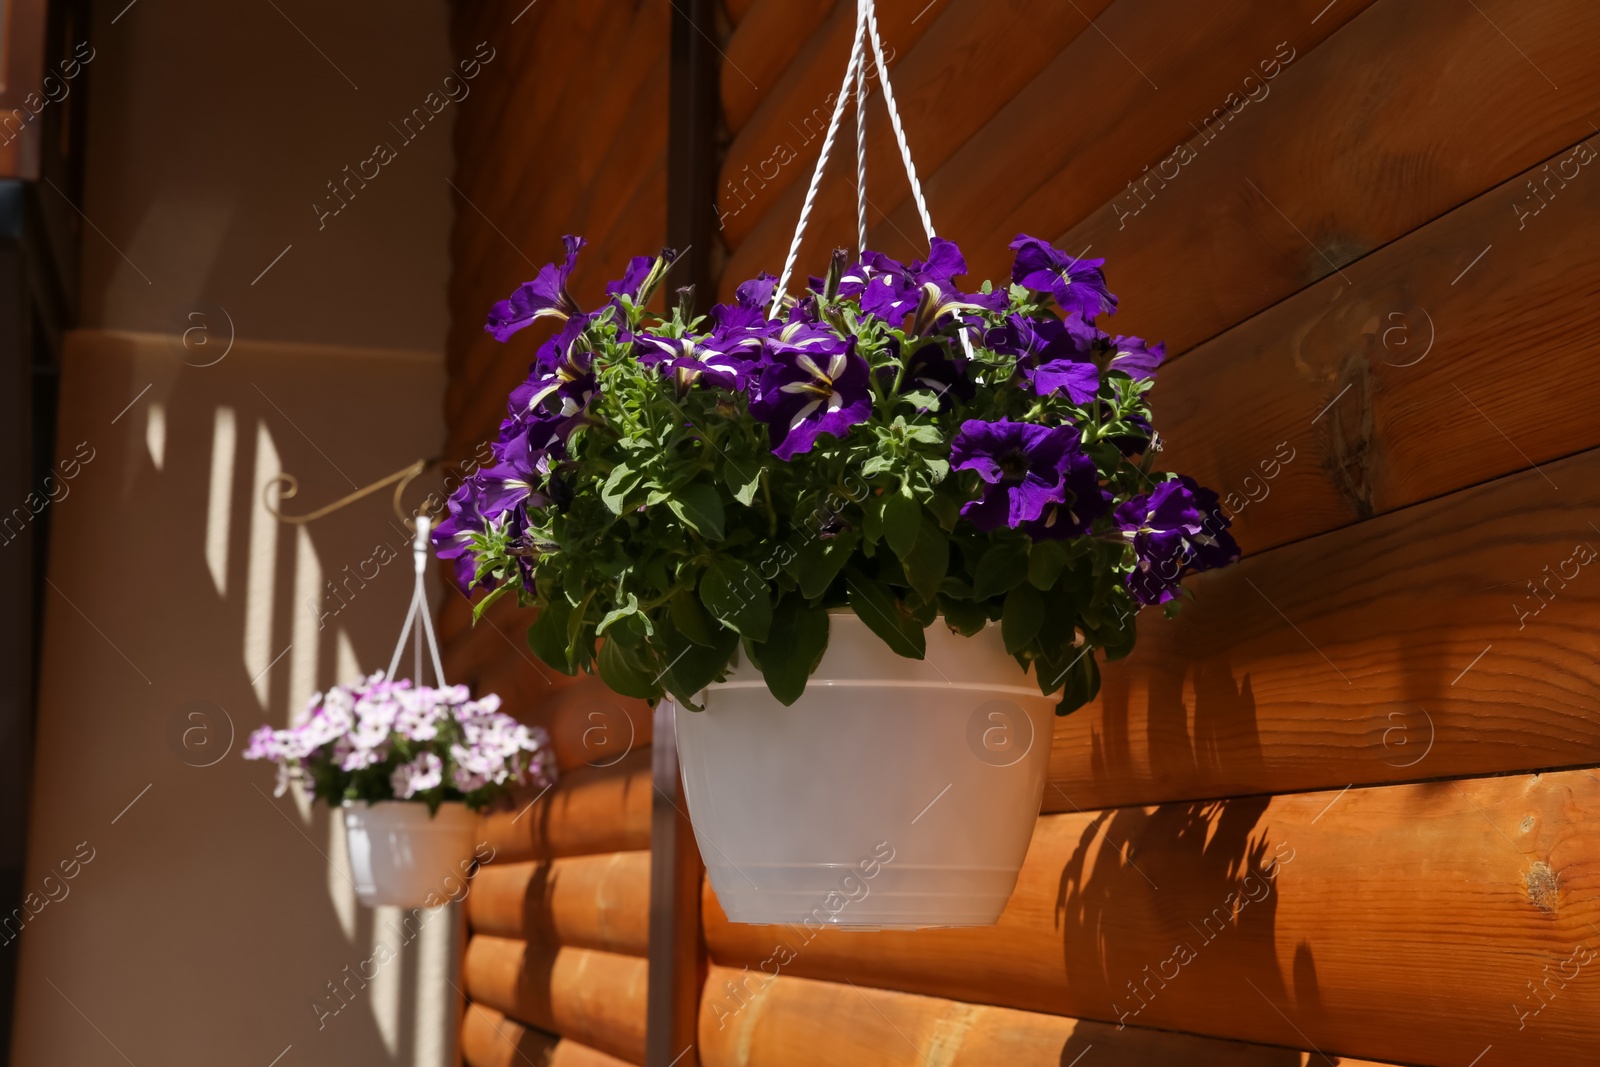
<path fill-rule="evenodd" d="M 459 3 L 461 54 L 488 42 L 456 123 L 445 454 L 478 451 L 549 336 L 483 333 L 490 306 L 563 234 L 589 246 L 571 288 L 594 302 L 627 259 L 666 243 L 667 0 Z M 562 781 L 486 816 L 494 859 L 467 896 L 462 961 L 469 1067 L 645 1062 L 651 709 L 597 678 L 566 678 L 526 645 L 528 613 L 501 601 L 475 625 L 451 593 L 446 672 L 550 733 Z"/>

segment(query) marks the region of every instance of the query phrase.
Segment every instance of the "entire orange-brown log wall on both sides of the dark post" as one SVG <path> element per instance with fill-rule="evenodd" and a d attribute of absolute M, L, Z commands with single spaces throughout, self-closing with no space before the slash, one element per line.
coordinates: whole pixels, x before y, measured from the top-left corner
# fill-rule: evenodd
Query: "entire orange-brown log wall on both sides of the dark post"
<path fill-rule="evenodd" d="M 496 346 L 488 304 L 563 232 L 592 243 L 579 301 L 666 232 L 669 5 L 523 3 L 456 14 L 509 61 L 458 126 L 453 456 L 542 339 Z M 1246 558 L 1141 619 L 1058 721 L 997 926 L 808 937 L 728 923 L 707 886 L 682 1062 L 1592 1062 L 1600 8 L 877 8 L 970 282 L 1018 232 L 1106 256 L 1117 330 L 1168 342 L 1166 459 L 1222 493 Z M 853 19 L 725 0 L 723 296 L 782 262 Z M 869 106 L 870 243 L 915 258 Z M 800 270 L 854 243 L 851 130 Z M 466 1059 L 642 1062 L 650 713 L 533 661 L 526 622 L 442 619 L 450 669 L 515 694 L 568 768 L 485 822 Z"/>

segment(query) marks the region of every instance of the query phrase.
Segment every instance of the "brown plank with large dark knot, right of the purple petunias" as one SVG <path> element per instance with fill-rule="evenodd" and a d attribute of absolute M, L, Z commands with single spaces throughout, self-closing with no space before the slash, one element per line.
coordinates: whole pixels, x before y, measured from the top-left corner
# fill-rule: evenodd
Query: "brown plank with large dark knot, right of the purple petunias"
<path fill-rule="evenodd" d="M 1579 158 L 1600 136 L 1165 368 L 1163 466 L 1224 493 L 1248 553 L 1600 446 L 1600 181 Z M 1507 376 L 1507 338 L 1562 387 Z M 1227 414 L 1238 397 L 1251 418 Z"/>

